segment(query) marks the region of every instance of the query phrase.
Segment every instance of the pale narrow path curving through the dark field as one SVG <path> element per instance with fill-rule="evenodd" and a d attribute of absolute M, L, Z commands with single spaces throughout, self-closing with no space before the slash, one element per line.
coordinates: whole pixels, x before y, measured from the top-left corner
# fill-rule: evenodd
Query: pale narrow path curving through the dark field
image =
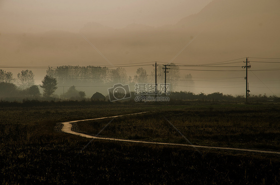
<path fill-rule="evenodd" d="M 189 144 L 178 144 L 178 143 L 160 143 L 160 142 L 147 142 L 147 141 L 139 141 L 139 140 L 127 140 L 127 139 L 114 139 L 114 138 L 106 138 L 106 137 L 95 137 L 87 134 L 82 134 L 78 132 L 74 132 L 71 130 L 72 124 L 79 121 L 90 121 L 90 120 L 98 120 L 98 119 L 106 119 L 106 118 L 114 118 L 114 117 L 122 117 L 122 116 L 130 116 L 137 115 L 147 112 L 140 112 L 134 114 L 125 114 L 125 115 L 117 115 L 117 116 L 109 116 L 109 117 L 100 117 L 94 119 L 83 119 L 83 120 L 75 120 L 69 122 L 62 122 L 63 127 L 61 129 L 62 132 L 74 134 L 87 138 L 95 138 L 95 139 L 103 139 L 103 140 L 112 140 L 112 141 L 124 141 L 124 142 L 132 142 L 132 143 L 146 143 L 146 144 L 158 144 L 158 145 L 172 145 L 172 146 L 186 146 L 186 147 L 194 147 L 194 148 L 206 148 L 206 149 L 221 149 L 221 150 L 235 150 L 235 151 L 244 151 L 244 152 L 258 152 L 258 153 L 270 153 L 270 154 L 280 154 L 280 152 L 273 151 L 264 151 L 264 150 L 251 150 L 251 149 L 240 149 L 240 148 L 225 148 L 225 147 L 210 147 L 210 146 L 199 146 L 199 145 L 189 145 Z"/>

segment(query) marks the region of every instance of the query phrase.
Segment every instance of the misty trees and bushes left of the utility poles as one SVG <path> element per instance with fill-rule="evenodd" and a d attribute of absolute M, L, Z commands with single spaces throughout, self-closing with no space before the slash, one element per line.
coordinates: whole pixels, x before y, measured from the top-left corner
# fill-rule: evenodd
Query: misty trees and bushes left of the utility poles
<path fill-rule="evenodd" d="M 124 68 L 110 69 L 96 66 L 60 66 L 48 68 L 46 76 L 42 80 L 42 85 L 36 86 L 34 74 L 31 70 L 22 70 L 17 74 L 19 87 L 13 83 L 11 72 L 0 70 L 0 98 L 5 97 L 28 97 L 28 98 L 49 98 L 59 87 L 70 87 L 67 92 L 63 92 L 60 98 L 63 99 L 83 99 L 86 96 L 84 91 L 78 91 L 77 86 L 113 86 L 114 84 L 148 83 L 148 75 L 145 69 L 139 68 L 134 77 L 127 75 Z M 39 87 L 42 88 L 42 94 Z M 57 96 L 56 96 L 57 97 Z"/>

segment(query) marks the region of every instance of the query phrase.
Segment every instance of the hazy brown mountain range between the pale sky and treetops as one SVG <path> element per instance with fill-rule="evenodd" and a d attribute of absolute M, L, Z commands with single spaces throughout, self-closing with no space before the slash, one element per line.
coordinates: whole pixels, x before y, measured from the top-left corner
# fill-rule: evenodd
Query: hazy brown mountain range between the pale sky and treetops
<path fill-rule="evenodd" d="M 0 35 L 1 63 L 51 66 L 107 65 L 90 41 L 112 63 L 203 64 L 246 56 L 279 57 L 280 0 L 213 0 L 199 13 L 173 25 L 131 24 L 114 29 L 87 23 L 81 33 L 49 31 Z"/>

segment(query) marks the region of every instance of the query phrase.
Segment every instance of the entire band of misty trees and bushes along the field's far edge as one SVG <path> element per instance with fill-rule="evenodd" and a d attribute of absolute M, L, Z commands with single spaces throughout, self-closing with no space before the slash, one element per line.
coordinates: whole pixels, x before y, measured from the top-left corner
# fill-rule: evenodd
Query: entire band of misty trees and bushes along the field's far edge
<path fill-rule="evenodd" d="M 170 68 L 179 69 L 175 64 L 171 63 Z M 159 68 L 157 71 L 157 83 L 164 83 L 164 68 Z M 124 68 L 110 69 L 107 67 L 96 67 L 96 66 L 60 66 L 57 68 L 48 68 L 46 71 L 46 76 L 42 80 L 42 85 L 35 85 L 34 74 L 31 70 L 22 70 L 17 74 L 17 81 L 19 87 L 14 85 L 15 79 L 11 72 L 6 72 L 0 69 L 0 99 L 12 100 L 12 97 L 20 98 L 45 98 L 48 99 L 54 95 L 54 92 L 59 86 L 69 87 L 66 92 L 63 92 L 60 97 L 61 99 L 74 99 L 82 100 L 85 99 L 85 91 L 79 91 L 76 86 L 81 85 L 108 85 L 113 86 L 114 84 L 134 84 L 134 83 L 154 83 L 155 70 L 152 70 L 150 74 L 146 72 L 143 68 L 138 68 L 136 75 L 134 77 L 128 76 Z M 185 75 L 189 85 L 193 86 L 191 81 L 191 74 Z M 176 85 L 179 79 L 178 72 L 176 70 L 170 70 L 166 76 L 166 80 L 171 85 Z M 108 89 L 108 86 L 106 89 Z M 40 89 L 42 93 L 40 92 Z M 106 94 L 105 94 L 106 95 Z M 211 94 L 193 92 L 176 92 L 174 89 L 170 95 L 172 99 L 180 100 L 208 100 L 208 101 L 232 101 L 232 100 L 242 100 L 244 96 L 232 96 L 228 94 L 223 94 L 221 92 L 214 92 Z M 264 95 L 252 95 L 251 99 L 275 99 L 276 96 L 266 96 Z"/>

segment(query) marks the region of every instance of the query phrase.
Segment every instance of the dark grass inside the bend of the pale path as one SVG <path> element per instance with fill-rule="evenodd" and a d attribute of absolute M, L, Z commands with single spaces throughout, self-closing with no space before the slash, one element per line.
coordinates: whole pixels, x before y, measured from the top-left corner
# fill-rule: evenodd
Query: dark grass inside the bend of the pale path
<path fill-rule="evenodd" d="M 166 117 L 195 145 L 280 151 L 279 107 L 173 107 L 116 118 L 100 136 L 153 142 L 187 143 Z M 95 135 L 111 119 L 78 122 Z"/>

